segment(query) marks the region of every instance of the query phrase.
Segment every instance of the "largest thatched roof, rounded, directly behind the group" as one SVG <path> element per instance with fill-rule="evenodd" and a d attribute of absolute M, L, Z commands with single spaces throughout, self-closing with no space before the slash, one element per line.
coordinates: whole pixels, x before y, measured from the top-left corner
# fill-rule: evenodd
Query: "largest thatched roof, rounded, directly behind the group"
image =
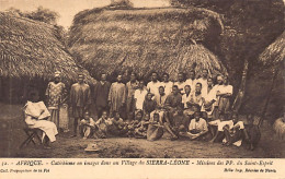
<path fill-rule="evenodd" d="M 202 68 L 226 73 L 217 56 L 203 46 L 223 32 L 219 14 L 205 9 L 93 9 L 76 15 L 69 46 L 91 73 L 134 69 L 145 76 Z"/>

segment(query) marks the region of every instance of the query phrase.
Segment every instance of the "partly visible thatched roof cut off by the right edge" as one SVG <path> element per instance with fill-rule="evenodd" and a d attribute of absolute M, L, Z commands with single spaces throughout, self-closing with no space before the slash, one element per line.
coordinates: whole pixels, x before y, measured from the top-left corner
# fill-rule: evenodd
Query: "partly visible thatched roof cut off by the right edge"
<path fill-rule="evenodd" d="M 277 64 L 285 59 L 285 31 L 260 55 L 264 64 Z"/>

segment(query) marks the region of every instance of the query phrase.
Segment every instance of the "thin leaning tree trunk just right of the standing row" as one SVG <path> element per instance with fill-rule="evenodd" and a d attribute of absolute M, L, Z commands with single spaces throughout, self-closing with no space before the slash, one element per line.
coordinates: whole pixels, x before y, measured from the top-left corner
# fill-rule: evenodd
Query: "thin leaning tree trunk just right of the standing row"
<path fill-rule="evenodd" d="M 249 60 L 246 59 L 243 70 L 242 70 L 242 76 L 241 76 L 241 83 L 240 83 L 239 92 L 238 92 L 236 99 L 232 104 L 232 110 L 236 111 L 236 112 L 239 111 L 240 106 L 242 104 L 242 99 L 244 97 L 248 70 L 249 70 Z"/>

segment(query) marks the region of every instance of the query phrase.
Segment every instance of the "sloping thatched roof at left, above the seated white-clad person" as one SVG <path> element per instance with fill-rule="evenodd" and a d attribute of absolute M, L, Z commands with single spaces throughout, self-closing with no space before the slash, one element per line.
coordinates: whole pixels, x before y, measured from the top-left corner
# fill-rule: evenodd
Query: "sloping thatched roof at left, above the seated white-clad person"
<path fill-rule="evenodd" d="M 55 71 L 64 81 L 76 81 L 83 72 L 88 82 L 94 83 L 80 68 L 59 40 L 53 25 L 0 13 L 0 76 L 42 77 L 50 80 Z"/>

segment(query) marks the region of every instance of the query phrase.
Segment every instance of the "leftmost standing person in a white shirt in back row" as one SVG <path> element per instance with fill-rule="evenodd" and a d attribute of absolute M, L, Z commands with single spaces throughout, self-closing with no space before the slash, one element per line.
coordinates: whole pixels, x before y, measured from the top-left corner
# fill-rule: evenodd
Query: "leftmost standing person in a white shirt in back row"
<path fill-rule="evenodd" d="M 144 80 L 139 80 L 138 88 L 135 91 L 134 99 L 135 99 L 135 109 L 142 110 L 144 102 L 148 91 L 145 88 Z"/>

